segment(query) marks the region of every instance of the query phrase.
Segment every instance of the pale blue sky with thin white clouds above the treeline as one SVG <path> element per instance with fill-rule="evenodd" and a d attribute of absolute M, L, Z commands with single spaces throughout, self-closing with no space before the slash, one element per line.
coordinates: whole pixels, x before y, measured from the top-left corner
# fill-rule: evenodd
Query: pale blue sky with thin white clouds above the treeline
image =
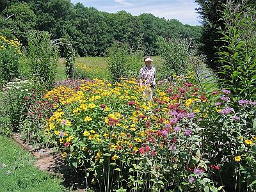
<path fill-rule="evenodd" d="M 195 10 L 198 5 L 194 0 L 71 0 L 71 2 L 74 4 L 80 2 L 84 6 L 92 6 L 108 13 L 121 10 L 132 15 L 152 13 L 160 18 L 178 19 L 183 24 L 200 25 L 199 15 Z"/>

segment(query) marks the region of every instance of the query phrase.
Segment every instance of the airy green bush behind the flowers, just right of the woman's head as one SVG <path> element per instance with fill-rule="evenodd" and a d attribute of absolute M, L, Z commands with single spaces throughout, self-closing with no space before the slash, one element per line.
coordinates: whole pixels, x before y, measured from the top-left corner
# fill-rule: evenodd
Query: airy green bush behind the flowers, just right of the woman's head
<path fill-rule="evenodd" d="M 164 60 L 164 78 L 186 74 L 189 66 L 189 42 L 181 38 L 159 38 L 159 55 Z"/>

